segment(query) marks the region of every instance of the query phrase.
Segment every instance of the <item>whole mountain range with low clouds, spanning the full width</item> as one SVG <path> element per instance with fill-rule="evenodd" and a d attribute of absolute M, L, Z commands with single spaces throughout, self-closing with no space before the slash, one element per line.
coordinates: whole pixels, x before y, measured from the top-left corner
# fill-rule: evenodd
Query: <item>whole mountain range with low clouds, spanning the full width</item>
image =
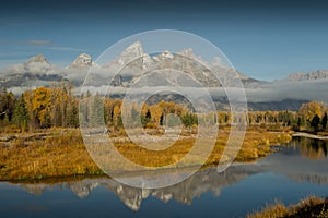
<path fill-rule="evenodd" d="M 164 72 L 163 69 L 169 70 Z M 115 75 L 115 72 L 119 74 Z M 195 77 L 197 81 L 192 80 Z M 105 93 L 109 84 L 117 90 L 114 94 L 116 96 L 121 96 L 131 86 L 207 87 L 218 107 L 226 104 L 223 87 L 237 87 L 237 81 L 242 82 L 250 109 L 265 110 L 273 106 L 278 110 L 293 110 L 309 100 L 328 102 L 325 95 L 328 70 L 298 72 L 282 80 L 265 82 L 222 65 L 220 59 L 206 62 L 190 48 L 176 53 L 163 51 L 151 56 L 143 52 L 140 41 L 131 44 L 118 57 L 103 65 L 97 64 L 87 53 L 79 55 L 67 66 L 52 64 L 39 55 L 23 63 L 0 69 L 0 86 L 14 94 L 61 82 L 72 83 L 77 94 L 82 84 L 99 93 Z"/>

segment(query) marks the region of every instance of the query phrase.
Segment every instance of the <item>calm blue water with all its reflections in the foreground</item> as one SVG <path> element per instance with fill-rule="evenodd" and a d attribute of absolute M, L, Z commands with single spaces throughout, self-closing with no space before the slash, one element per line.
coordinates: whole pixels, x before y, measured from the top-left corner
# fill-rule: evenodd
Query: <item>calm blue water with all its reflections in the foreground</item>
<path fill-rule="evenodd" d="M 328 195 L 328 142 L 294 138 L 256 164 L 224 173 L 200 171 L 161 190 L 109 179 L 57 183 L 0 183 L 1 217 L 244 217 L 280 199 L 292 204 Z"/>

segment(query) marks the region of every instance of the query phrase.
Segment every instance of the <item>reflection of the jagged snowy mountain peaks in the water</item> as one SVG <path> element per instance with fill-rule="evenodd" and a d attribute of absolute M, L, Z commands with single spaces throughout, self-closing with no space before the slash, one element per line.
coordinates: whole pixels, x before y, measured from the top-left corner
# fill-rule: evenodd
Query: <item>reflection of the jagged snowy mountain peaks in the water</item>
<path fill-rule="evenodd" d="M 253 166 L 253 165 L 251 165 Z M 126 206 L 132 210 L 139 210 L 143 199 L 152 196 L 163 202 L 175 199 L 183 204 L 191 205 L 192 199 L 200 197 L 204 192 L 220 195 L 221 189 L 234 184 L 258 171 L 251 170 L 249 165 L 232 166 L 224 173 L 218 173 L 214 168 L 201 170 L 184 182 L 156 190 L 147 190 L 120 184 L 108 178 L 84 179 L 81 181 L 58 182 L 58 183 L 32 183 L 15 184 L 34 195 L 42 195 L 45 190 L 71 190 L 80 198 L 84 198 L 97 187 L 103 186 L 120 198 Z"/>

